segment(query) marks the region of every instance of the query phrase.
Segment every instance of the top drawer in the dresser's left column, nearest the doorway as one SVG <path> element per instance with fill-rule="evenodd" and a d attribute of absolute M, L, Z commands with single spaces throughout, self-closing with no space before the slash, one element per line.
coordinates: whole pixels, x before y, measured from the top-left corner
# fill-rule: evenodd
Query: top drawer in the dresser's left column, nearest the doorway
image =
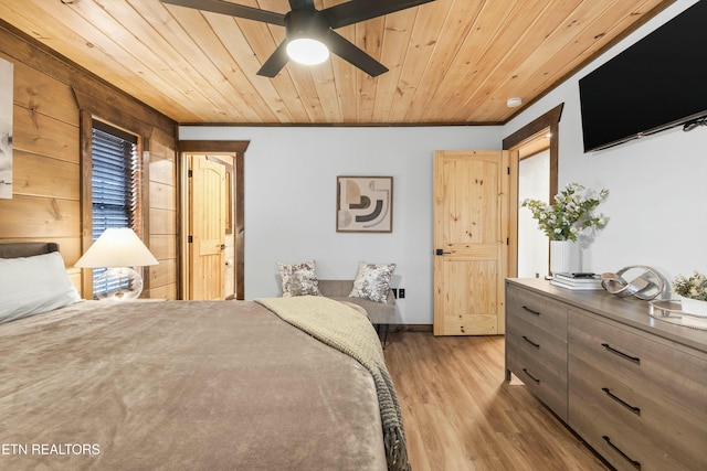
<path fill-rule="evenodd" d="M 558 339 L 567 339 L 567 306 L 536 292 L 509 285 L 506 291 L 507 317 L 516 315 Z"/>

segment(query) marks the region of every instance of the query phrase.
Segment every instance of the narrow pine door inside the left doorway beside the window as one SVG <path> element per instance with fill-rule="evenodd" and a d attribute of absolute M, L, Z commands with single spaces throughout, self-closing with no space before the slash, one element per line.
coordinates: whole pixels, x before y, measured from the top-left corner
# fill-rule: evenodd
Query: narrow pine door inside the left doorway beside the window
<path fill-rule="evenodd" d="M 190 159 L 189 299 L 224 299 L 225 167 Z"/>

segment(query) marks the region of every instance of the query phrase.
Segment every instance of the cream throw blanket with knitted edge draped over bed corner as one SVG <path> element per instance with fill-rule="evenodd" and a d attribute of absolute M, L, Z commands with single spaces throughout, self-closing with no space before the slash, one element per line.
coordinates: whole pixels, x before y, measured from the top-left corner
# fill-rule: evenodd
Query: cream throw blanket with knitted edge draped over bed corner
<path fill-rule="evenodd" d="M 341 302 L 319 296 L 265 298 L 255 302 L 285 322 L 357 360 L 371 373 L 378 392 L 388 469 L 410 470 L 400 405 L 386 368 L 383 350 L 368 318 Z"/>

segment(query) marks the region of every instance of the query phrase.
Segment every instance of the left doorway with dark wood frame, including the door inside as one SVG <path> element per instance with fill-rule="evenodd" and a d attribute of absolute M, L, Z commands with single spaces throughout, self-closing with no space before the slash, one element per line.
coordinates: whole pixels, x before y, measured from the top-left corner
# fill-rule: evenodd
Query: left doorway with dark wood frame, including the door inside
<path fill-rule="evenodd" d="M 182 299 L 207 299 L 203 296 L 207 296 L 208 299 L 217 299 L 213 298 L 217 291 L 220 292 L 219 298 L 221 299 L 245 298 L 243 160 L 247 144 L 247 141 L 179 142 L 182 169 L 180 172 L 182 189 L 180 203 L 182 207 L 180 218 Z M 212 173 L 222 175 L 217 179 L 219 184 L 209 183 L 207 192 L 196 191 L 194 162 L 215 165 L 218 171 Z M 213 194 L 215 186 L 219 188 L 218 194 Z M 211 200 L 222 200 L 219 205 L 223 203 L 223 210 L 205 211 L 215 203 L 208 203 L 208 206 L 203 206 L 204 203 L 201 203 L 198 197 L 202 193 L 210 194 Z M 211 207 L 211 210 L 213 208 Z M 203 218 L 209 214 L 213 215 L 209 218 L 221 217 L 222 224 L 204 222 Z M 219 234 L 211 234 L 213 227 L 219 227 L 215 229 Z M 194 231 L 201 231 L 204 234 L 192 234 Z M 217 238 L 219 239 L 218 244 L 213 242 Z M 203 249 L 208 249 L 212 245 L 214 247 L 218 245 L 219 250 L 215 250 L 217 254 L 213 254 L 214 256 L 210 260 L 208 250 Z"/>

